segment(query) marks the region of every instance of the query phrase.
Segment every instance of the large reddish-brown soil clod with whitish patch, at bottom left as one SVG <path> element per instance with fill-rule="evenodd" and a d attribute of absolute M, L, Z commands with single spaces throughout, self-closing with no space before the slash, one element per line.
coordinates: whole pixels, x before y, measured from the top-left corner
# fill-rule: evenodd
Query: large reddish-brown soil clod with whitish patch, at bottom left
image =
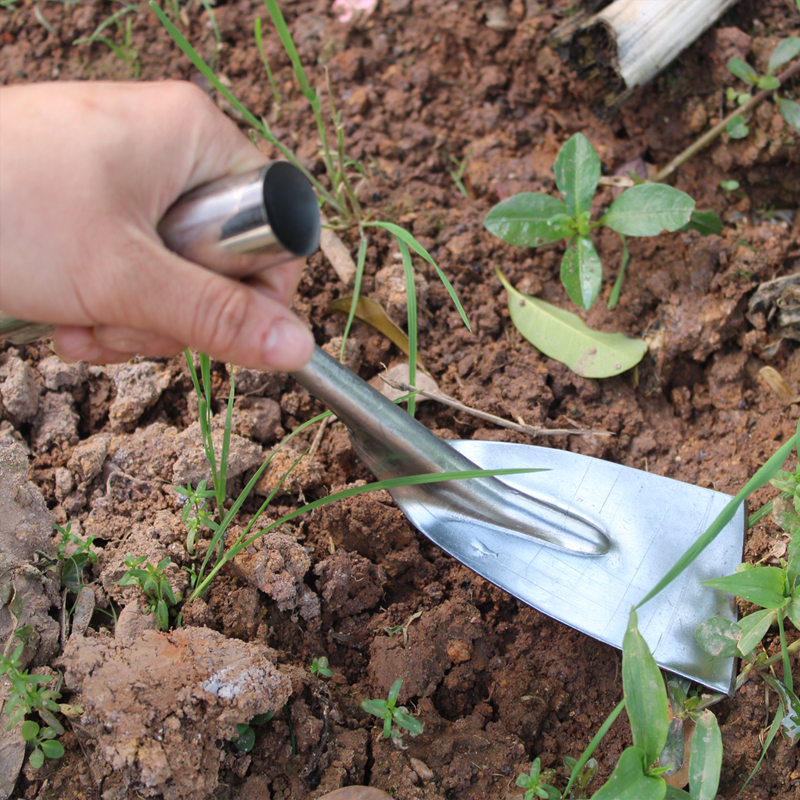
<path fill-rule="evenodd" d="M 78 637 L 61 664 L 66 685 L 80 692 L 81 725 L 97 756 L 131 796 L 204 800 L 236 725 L 279 712 L 289 699 L 291 681 L 270 654 L 208 628 L 183 628 L 147 630 L 130 644 Z"/>

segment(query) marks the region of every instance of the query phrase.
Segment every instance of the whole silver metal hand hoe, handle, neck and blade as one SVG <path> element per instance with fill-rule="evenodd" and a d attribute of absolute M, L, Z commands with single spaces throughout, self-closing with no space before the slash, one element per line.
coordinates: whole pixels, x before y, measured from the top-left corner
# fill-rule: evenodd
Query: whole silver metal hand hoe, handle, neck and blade
<path fill-rule="evenodd" d="M 275 162 L 179 200 L 159 225 L 198 264 L 243 277 L 317 249 L 319 209 L 300 170 Z M 47 326 L 0 315 L 16 343 Z M 316 349 L 294 378 L 347 426 L 379 479 L 509 467 L 539 470 L 392 489 L 431 541 L 509 594 L 584 633 L 622 646 L 639 603 L 729 502 L 727 495 L 546 447 L 443 441 Z M 742 558 L 745 509 L 667 588 L 638 609 L 639 629 L 665 669 L 730 693 L 733 659 L 695 641 L 710 617 L 736 621 L 732 598 L 701 585 Z"/>

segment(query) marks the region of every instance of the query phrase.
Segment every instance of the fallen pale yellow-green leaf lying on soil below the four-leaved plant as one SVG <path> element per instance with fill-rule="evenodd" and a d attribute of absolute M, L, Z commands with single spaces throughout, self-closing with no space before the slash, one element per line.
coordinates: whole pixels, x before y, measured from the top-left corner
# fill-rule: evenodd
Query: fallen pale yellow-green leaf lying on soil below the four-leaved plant
<path fill-rule="evenodd" d="M 640 339 L 592 330 L 576 314 L 518 292 L 499 270 L 496 272 L 508 292 L 508 309 L 517 330 L 534 347 L 577 375 L 619 375 L 638 364 L 647 352 Z"/>

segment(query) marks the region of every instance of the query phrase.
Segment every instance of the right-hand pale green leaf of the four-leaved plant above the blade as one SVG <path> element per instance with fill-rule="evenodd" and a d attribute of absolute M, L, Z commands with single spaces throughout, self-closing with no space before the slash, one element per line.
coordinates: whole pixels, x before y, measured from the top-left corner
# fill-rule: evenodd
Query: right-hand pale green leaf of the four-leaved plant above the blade
<path fill-rule="evenodd" d="M 690 219 L 694 200 L 663 183 L 643 183 L 626 189 L 600 222 L 626 236 L 657 236 L 676 231 Z"/>

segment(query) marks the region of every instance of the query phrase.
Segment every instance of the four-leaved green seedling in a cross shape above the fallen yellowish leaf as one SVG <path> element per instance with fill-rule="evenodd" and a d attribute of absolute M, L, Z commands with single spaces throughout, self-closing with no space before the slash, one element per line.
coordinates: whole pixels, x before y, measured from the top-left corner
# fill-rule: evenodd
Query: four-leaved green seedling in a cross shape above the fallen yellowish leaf
<path fill-rule="evenodd" d="M 602 282 L 593 230 L 606 226 L 625 236 L 657 236 L 665 229 L 682 228 L 694 210 L 694 200 L 685 192 L 644 183 L 626 189 L 600 219 L 592 222 L 600 158 L 582 133 L 576 133 L 561 148 L 553 169 L 561 200 L 523 192 L 498 203 L 486 215 L 484 225 L 503 241 L 520 247 L 566 240 L 561 281 L 573 302 L 584 309 L 592 307 Z"/>

